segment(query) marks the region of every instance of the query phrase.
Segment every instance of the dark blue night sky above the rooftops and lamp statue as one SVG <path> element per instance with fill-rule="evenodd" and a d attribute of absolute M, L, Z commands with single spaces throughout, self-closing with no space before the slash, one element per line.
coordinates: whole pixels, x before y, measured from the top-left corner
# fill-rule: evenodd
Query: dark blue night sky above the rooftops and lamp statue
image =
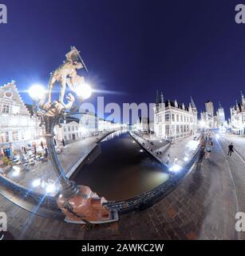
<path fill-rule="evenodd" d="M 189 102 L 198 110 L 221 101 L 226 113 L 245 84 L 245 24 L 235 5 L 245 1 L 3 0 L 0 84 L 20 90 L 47 83 L 69 46 L 81 50 L 88 78 L 106 102 Z M 245 90 L 244 90 L 245 93 Z M 30 102 L 23 93 L 26 102 Z M 93 94 L 93 101 L 96 96 Z"/>

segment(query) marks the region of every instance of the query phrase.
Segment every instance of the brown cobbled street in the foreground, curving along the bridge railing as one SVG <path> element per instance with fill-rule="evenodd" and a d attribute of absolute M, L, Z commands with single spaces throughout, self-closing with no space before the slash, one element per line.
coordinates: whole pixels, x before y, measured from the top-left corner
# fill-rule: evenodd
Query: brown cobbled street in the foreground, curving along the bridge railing
<path fill-rule="evenodd" d="M 235 231 L 235 214 L 245 211 L 244 165 L 223 150 L 215 141 L 211 157 L 166 198 L 93 230 L 32 215 L 2 197 L 0 211 L 16 239 L 244 239 L 245 232 Z"/>

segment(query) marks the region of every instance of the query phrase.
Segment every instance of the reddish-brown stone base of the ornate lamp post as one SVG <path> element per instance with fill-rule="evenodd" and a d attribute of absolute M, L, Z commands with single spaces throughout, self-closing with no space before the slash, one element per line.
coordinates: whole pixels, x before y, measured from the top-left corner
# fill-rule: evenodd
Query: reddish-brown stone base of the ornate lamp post
<path fill-rule="evenodd" d="M 105 198 L 99 198 L 89 186 L 79 186 L 77 194 L 57 199 L 57 206 L 65 214 L 65 222 L 76 224 L 101 224 L 118 221 L 117 210 L 107 210 L 102 206 Z"/>

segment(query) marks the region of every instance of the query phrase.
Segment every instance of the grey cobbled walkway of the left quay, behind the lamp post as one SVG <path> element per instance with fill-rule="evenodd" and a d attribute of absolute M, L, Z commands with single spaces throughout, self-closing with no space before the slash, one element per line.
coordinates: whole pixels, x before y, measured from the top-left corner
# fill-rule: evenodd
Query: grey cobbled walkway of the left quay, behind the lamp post
<path fill-rule="evenodd" d="M 57 158 L 61 162 L 61 166 L 63 167 L 65 174 L 72 171 L 75 164 L 81 163 L 91 150 L 97 146 L 97 142 L 100 138 L 103 138 L 106 134 L 108 134 L 108 132 L 66 145 L 63 152 L 61 154 L 57 154 Z M 38 193 L 45 193 L 45 187 L 33 187 L 32 182 L 37 178 L 41 178 L 41 180 L 45 182 L 54 182 L 57 181 L 57 174 L 55 174 L 53 166 L 50 160 L 48 160 L 48 162 L 36 161 L 34 166 L 30 166 L 28 169 L 22 170 L 18 176 L 14 176 L 14 170 L 10 170 L 7 174 L 7 178 L 10 178 L 12 181 L 17 182 L 22 186 L 31 188 Z M 57 192 L 54 191 L 53 193 L 56 194 Z"/>

